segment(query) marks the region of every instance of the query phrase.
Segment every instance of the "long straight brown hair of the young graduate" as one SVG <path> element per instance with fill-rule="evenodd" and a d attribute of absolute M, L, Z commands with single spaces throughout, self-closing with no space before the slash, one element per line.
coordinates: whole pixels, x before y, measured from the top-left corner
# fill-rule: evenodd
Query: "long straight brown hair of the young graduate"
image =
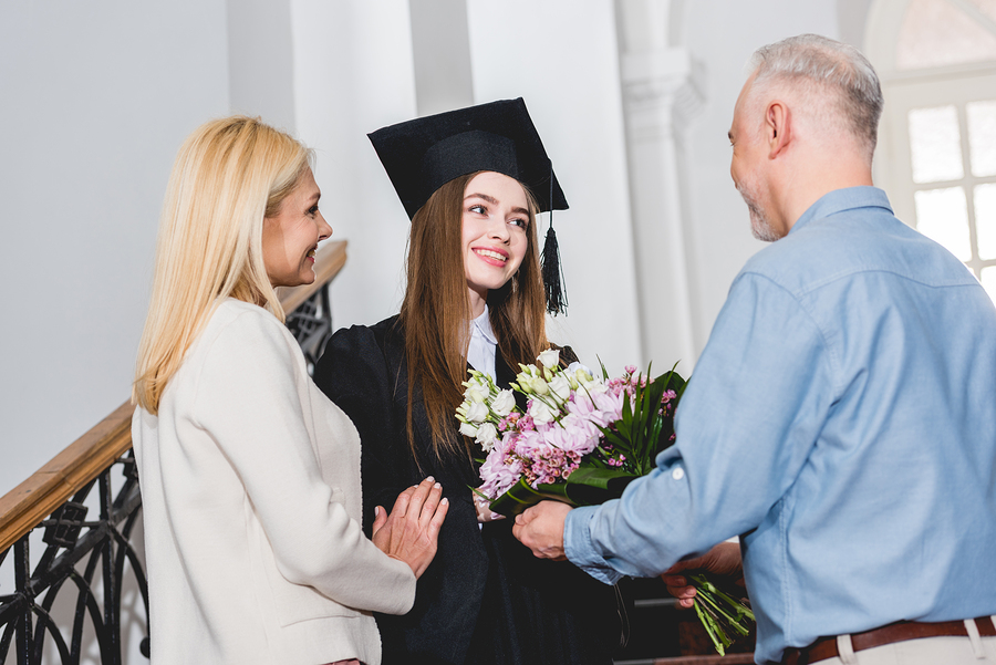
<path fill-rule="evenodd" d="M 418 461 L 412 408 L 418 382 L 437 459 L 471 455 L 469 440 L 457 434 L 454 419 L 467 378 L 470 298 L 463 257 L 464 190 L 478 173 L 437 189 L 412 219 L 408 240 L 408 285 L 398 323 L 404 328 L 408 365 L 408 445 Z M 536 200 L 526 186 L 529 228 L 519 270 L 500 289 L 488 293 L 488 312 L 498 351 L 510 366 L 531 363 L 549 346 L 543 281 L 536 236 Z"/>

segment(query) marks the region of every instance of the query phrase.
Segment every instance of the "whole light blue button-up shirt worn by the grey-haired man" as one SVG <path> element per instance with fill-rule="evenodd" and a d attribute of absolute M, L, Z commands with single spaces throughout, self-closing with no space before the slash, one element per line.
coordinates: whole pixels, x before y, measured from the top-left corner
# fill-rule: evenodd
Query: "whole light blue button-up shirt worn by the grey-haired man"
<path fill-rule="evenodd" d="M 828 194 L 747 262 L 675 426 L 653 474 L 568 516 L 593 576 L 740 534 L 758 663 L 996 613 L 996 310 L 881 190 Z"/>

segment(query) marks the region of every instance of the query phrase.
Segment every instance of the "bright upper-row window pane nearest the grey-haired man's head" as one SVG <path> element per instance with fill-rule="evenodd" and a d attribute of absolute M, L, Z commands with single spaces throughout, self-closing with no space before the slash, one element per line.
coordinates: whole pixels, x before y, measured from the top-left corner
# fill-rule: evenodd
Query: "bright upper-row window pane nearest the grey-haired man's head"
<path fill-rule="evenodd" d="M 958 112 L 954 106 L 910 111 L 910 150 L 914 183 L 940 183 L 964 177 Z"/>

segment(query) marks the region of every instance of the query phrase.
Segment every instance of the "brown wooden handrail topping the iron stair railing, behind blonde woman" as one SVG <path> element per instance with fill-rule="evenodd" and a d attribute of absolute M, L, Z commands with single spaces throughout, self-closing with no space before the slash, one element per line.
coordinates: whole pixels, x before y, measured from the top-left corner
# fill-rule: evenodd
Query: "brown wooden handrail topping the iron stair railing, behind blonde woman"
<path fill-rule="evenodd" d="M 345 240 L 322 247 L 315 256 L 314 283 L 281 289 L 278 293 L 284 311 L 293 311 L 330 282 L 342 269 L 345 259 Z M 135 407 L 125 402 L 31 477 L 0 497 L 0 552 L 7 551 L 132 447 L 134 411 Z"/>

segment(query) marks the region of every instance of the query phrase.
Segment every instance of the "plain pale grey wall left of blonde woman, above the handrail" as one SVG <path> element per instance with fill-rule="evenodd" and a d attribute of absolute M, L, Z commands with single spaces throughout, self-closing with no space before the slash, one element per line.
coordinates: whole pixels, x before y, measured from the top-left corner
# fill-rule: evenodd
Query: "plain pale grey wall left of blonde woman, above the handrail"
<path fill-rule="evenodd" d="M 227 66 L 224 0 L 0 3 L 0 493 L 127 399 L 166 179 Z"/>

